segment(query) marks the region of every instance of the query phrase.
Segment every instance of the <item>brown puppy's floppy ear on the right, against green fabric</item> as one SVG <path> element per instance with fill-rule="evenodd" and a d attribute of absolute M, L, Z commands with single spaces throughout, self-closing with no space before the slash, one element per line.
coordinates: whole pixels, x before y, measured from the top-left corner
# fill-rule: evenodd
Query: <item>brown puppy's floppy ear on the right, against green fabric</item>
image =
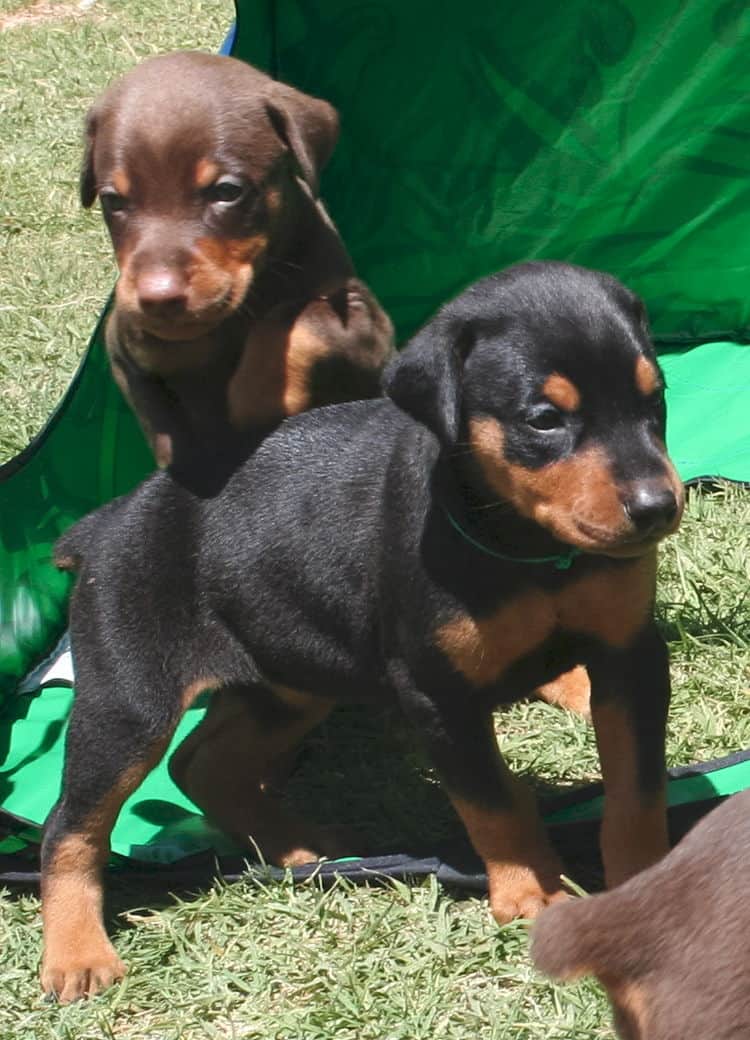
<path fill-rule="evenodd" d="M 320 171 L 338 140 L 338 113 L 333 105 L 284 83 L 274 83 L 265 102 L 271 126 L 296 159 L 302 176 L 317 196 Z"/>

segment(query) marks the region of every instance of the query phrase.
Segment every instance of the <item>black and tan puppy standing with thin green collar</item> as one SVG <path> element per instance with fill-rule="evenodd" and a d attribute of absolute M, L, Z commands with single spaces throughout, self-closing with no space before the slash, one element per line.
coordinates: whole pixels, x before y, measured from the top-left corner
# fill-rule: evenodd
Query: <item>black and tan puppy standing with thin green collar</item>
<path fill-rule="evenodd" d="M 667 851 L 652 604 L 682 491 L 643 306 L 605 275 L 523 264 L 441 310 L 387 389 L 287 420 L 212 499 L 157 473 L 60 540 L 79 571 L 77 698 L 43 849 L 42 979 L 62 999 L 123 971 L 100 914 L 112 822 L 209 687 L 202 729 L 227 778 L 198 737 L 175 775 L 281 863 L 325 846 L 265 790 L 276 757 L 337 699 L 399 703 L 507 921 L 561 894 L 560 864 L 492 710 L 585 664 L 609 882 Z"/>

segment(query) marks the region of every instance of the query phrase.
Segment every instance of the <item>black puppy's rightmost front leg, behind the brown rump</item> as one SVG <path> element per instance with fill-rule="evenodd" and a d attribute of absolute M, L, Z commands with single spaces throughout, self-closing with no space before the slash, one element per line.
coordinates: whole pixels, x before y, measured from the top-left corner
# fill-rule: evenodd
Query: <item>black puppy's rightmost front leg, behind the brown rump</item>
<path fill-rule="evenodd" d="M 601 853 L 613 887 L 669 851 L 664 750 L 669 655 L 653 621 L 626 649 L 599 648 L 589 675 L 605 794 Z"/>

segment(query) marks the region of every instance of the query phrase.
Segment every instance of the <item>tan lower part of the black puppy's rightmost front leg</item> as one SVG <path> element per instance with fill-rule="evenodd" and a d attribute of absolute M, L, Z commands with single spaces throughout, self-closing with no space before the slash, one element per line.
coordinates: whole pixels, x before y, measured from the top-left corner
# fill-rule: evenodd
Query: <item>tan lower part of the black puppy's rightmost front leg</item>
<path fill-rule="evenodd" d="M 604 780 L 601 854 L 612 888 L 669 852 L 666 796 L 649 803 L 639 796 L 638 744 L 627 711 L 592 701 L 592 716 Z"/>

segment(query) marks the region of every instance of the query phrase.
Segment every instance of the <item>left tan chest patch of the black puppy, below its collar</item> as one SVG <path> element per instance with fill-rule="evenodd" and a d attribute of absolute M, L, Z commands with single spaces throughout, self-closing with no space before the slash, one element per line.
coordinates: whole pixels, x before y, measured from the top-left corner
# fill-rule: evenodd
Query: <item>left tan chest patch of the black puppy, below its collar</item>
<path fill-rule="evenodd" d="M 435 643 L 464 678 L 485 686 L 542 643 L 554 622 L 551 600 L 528 592 L 488 618 L 465 615 L 447 622 L 435 632 Z"/>

